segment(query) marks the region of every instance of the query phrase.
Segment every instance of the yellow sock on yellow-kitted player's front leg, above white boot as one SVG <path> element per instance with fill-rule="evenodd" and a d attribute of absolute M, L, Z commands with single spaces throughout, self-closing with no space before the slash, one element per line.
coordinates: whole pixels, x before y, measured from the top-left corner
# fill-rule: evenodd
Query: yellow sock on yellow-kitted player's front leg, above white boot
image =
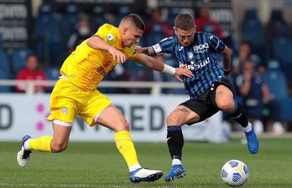
<path fill-rule="evenodd" d="M 136 150 L 132 142 L 129 131 L 119 131 L 115 133 L 115 142 L 118 150 L 125 158 L 128 167 L 139 164 Z"/>

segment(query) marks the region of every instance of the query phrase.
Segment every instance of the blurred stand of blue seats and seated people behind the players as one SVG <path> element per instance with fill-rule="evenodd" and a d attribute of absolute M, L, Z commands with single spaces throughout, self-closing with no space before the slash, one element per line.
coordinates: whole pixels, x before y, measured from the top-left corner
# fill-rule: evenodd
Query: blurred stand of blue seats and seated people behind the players
<path fill-rule="evenodd" d="M 75 47 L 92 36 L 104 23 L 118 26 L 120 20 L 132 13 L 130 7 L 121 6 L 114 19 L 108 19 L 103 7 L 95 6 L 90 15 L 80 14 L 78 7 L 69 4 L 63 13 L 52 11 L 49 4 L 42 4 L 34 20 L 33 49 L 17 49 L 7 55 L 0 48 L 0 79 L 56 80 L 59 70 Z M 171 8 L 166 19 L 162 19 L 161 9 L 155 8 L 141 15 L 146 23 L 146 31 L 139 46 L 146 47 L 161 39 L 174 35 L 175 16 L 179 8 Z M 241 40 L 235 41 L 226 35 L 215 20 L 210 18 L 210 7 L 204 5 L 195 16 L 196 30 L 213 33 L 231 49 L 231 77 L 236 100 L 243 104 L 249 117 L 254 119 L 258 133 L 267 130 L 266 121 L 272 122 L 272 131 L 282 134 L 283 122 L 292 119 L 292 36 L 291 26 L 283 19 L 280 10 L 273 10 L 267 25 L 263 25 L 257 11 L 248 9 L 241 21 Z M 171 56 L 155 57 L 166 64 L 177 66 Z M 221 57 L 218 56 L 219 64 Z M 41 69 L 40 69 L 41 68 Z M 168 74 L 147 69 L 137 63 L 127 61 L 119 64 L 104 80 L 122 81 L 176 81 Z M 37 87 L 35 90 L 50 92 L 51 88 Z M 100 88 L 103 93 L 147 94 L 145 88 Z M 0 87 L 0 92 L 24 92 L 25 86 Z M 183 89 L 163 89 L 165 94 L 184 94 Z M 224 120 L 234 122 L 224 116 Z"/>

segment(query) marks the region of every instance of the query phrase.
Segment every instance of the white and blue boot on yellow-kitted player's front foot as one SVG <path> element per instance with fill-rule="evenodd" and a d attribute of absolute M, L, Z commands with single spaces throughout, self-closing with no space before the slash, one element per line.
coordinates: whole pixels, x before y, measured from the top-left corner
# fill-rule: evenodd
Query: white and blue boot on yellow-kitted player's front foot
<path fill-rule="evenodd" d="M 140 168 L 130 172 L 130 181 L 133 183 L 139 182 L 154 182 L 162 177 L 161 171 L 149 170 L 146 168 Z"/>

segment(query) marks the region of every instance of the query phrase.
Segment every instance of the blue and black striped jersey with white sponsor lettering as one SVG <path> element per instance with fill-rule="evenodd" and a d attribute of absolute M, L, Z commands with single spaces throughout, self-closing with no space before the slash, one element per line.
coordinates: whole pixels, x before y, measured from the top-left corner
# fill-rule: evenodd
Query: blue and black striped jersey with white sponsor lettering
<path fill-rule="evenodd" d="M 187 64 L 186 68 L 194 74 L 192 78 L 183 76 L 185 91 L 191 99 L 197 98 L 212 84 L 226 78 L 217 62 L 217 53 L 221 53 L 225 44 L 215 35 L 196 32 L 194 42 L 189 47 L 183 47 L 177 36 L 162 39 L 153 45 L 156 54 L 172 54 L 179 66 Z"/>

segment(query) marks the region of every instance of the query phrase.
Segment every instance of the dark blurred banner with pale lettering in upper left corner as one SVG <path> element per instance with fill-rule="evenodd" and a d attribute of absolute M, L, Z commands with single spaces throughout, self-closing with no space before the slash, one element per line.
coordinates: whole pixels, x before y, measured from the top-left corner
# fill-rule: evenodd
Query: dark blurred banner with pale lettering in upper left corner
<path fill-rule="evenodd" d="M 0 0 L 2 48 L 28 48 L 31 24 L 30 0 Z"/>

